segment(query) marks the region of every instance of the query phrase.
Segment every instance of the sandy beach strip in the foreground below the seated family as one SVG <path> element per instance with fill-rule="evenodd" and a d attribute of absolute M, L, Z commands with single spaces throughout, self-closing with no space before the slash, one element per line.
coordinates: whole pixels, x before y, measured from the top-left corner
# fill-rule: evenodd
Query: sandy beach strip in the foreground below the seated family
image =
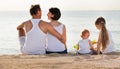
<path fill-rule="evenodd" d="M 0 69 L 120 69 L 120 53 L 1 55 Z"/>

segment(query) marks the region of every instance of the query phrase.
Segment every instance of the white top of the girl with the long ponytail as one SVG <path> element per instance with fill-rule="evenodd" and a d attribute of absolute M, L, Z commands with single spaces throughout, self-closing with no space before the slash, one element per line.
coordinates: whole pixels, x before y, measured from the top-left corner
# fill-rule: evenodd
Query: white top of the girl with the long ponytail
<path fill-rule="evenodd" d="M 105 49 L 104 53 L 113 52 L 113 49 L 114 49 L 114 42 L 113 42 L 112 35 L 111 35 L 110 31 L 108 31 L 108 36 L 109 36 L 109 44 L 107 45 L 107 48 Z"/>

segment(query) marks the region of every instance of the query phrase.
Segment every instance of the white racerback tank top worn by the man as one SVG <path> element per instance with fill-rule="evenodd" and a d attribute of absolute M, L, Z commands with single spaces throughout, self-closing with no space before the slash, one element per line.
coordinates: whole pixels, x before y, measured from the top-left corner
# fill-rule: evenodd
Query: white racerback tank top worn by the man
<path fill-rule="evenodd" d="M 31 19 L 32 29 L 26 33 L 22 52 L 25 54 L 45 54 L 46 34 L 39 28 L 40 19 Z"/>

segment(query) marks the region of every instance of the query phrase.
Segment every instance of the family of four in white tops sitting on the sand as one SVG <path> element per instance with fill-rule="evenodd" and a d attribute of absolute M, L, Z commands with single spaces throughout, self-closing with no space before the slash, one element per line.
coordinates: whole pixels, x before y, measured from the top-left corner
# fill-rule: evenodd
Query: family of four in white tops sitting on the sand
<path fill-rule="evenodd" d="M 32 5 L 30 14 L 32 19 L 23 22 L 17 27 L 21 52 L 23 54 L 67 54 L 66 47 L 66 27 L 59 22 L 61 12 L 58 8 L 50 8 L 47 14 L 50 22 L 41 20 L 41 8 Z M 100 30 L 97 48 L 94 48 L 89 40 L 90 32 L 82 32 L 82 40 L 79 41 L 79 54 L 100 54 L 113 51 L 113 40 L 111 33 L 106 29 L 106 22 L 103 17 L 95 21 L 95 25 Z"/>

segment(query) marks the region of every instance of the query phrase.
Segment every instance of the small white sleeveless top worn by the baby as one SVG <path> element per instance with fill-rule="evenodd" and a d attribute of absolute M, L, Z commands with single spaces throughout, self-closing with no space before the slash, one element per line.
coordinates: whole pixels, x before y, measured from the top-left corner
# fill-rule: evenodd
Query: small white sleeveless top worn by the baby
<path fill-rule="evenodd" d="M 79 53 L 90 53 L 90 44 L 89 44 L 89 39 L 82 39 L 79 41 Z"/>

